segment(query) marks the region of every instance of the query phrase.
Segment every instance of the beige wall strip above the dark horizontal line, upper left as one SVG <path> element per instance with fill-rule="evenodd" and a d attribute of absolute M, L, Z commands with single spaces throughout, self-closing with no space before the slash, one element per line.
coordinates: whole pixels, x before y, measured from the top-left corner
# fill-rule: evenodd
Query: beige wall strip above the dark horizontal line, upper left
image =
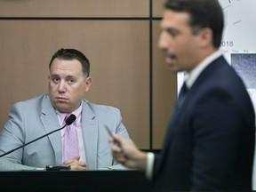
<path fill-rule="evenodd" d="M 0 0 L 0 17 L 148 16 L 148 0 Z"/>

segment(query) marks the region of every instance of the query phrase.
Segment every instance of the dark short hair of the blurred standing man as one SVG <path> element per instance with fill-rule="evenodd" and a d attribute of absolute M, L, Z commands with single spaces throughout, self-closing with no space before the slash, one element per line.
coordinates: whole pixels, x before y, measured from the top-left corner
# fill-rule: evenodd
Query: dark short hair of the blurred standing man
<path fill-rule="evenodd" d="M 212 44 L 215 48 L 220 47 L 224 19 L 218 0 L 167 0 L 164 7 L 174 12 L 188 12 L 188 25 L 195 34 L 201 28 L 211 28 Z"/>

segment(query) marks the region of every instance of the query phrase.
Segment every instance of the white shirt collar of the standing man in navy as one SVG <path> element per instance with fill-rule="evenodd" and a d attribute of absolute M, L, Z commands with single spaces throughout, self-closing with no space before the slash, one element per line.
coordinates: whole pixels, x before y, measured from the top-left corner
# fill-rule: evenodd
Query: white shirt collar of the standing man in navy
<path fill-rule="evenodd" d="M 204 70 L 204 68 L 206 68 L 208 65 L 210 65 L 212 63 L 213 60 L 216 60 L 217 58 L 219 58 L 221 56 L 221 52 L 218 50 L 216 52 L 213 52 L 211 55 L 209 55 L 207 58 L 205 58 L 204 60 L 202 60 L 197 66 L 196 68 L 194 68 L 193 70 L 191 70 L 189 73 L 185 72 L 184 74 L 184 80 L 185 83 L 189 88 L 191 88 L 191 86 L 195 83 L 196 78 L 202 73 L 202 71 Z"/>

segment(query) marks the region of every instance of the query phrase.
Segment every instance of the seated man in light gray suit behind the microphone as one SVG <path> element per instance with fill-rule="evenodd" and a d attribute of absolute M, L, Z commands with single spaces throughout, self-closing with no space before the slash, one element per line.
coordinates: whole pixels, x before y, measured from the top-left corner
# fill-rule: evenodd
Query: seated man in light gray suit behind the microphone
<path fill-rule="evenodd" d="M 84 100 L 91 86 L 90 62 L 82 52 L 60 49 L 49 64 L 49 94 L 13 105 L 0 133 L 0 155 L 65 125 L 73 114 L 73 146 L 68 127 L 0 157 L 0 170 L 44 169 L 48 164 L 70 165 L 71 170 L 123 169 L 111 155 L 108 132 L 129 138 L 117 108 Z M 70 126 L 71 126 L 70 125 Z M 66 157 L 68 148 L 75 154 Z M 68 156 L 68 155 L 67 155 Z"/>

